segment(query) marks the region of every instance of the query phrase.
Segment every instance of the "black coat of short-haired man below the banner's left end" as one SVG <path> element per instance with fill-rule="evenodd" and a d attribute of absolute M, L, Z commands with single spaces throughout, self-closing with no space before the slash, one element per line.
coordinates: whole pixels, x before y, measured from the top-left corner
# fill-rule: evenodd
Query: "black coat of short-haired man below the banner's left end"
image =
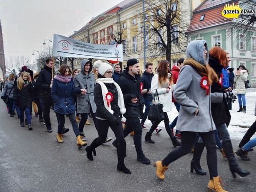
<path fill-rule="evenodd" d="M 42 98 L 51 97 L 51 79 L 52 79 L 52 68 L 45 66 L 43 71 L 40 71 L 37 77 L 38 95 Z"/>

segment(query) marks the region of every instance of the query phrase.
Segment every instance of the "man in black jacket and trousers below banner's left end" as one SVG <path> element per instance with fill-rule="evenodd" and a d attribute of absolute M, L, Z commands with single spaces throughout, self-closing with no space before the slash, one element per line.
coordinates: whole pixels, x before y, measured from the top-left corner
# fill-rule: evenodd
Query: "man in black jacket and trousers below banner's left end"
<path fill-rule="evenodd" d="M 42 98 L 44 103 L 43 115 L 46 122 L 48 133 L 52 133 L 52 124 L 50 120 L 50 109 L 51 109 L 51 106 L 53 105 L 53 99 L 51 97 L 52 70 L 54 70 L 53 60 L 47 59 L 44 70 L 40 71 L 37 78 L 39 97 Z"/>

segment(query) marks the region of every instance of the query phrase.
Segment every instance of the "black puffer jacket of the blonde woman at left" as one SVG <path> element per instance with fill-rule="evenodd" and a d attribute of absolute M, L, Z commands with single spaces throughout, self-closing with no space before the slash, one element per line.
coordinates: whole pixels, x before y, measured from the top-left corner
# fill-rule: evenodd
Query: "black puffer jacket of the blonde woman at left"
<path fill-rule="evenodd" d="M 13 100 L 16 100 L 15 105 L 20 108 L 30 108 L 33 101 L 32 95 L 32 83 L 29 83 L 26 86 L 24 84 L 21 90 L 19 90 L 18 87 L 15 86 L 13 92 Z"/>

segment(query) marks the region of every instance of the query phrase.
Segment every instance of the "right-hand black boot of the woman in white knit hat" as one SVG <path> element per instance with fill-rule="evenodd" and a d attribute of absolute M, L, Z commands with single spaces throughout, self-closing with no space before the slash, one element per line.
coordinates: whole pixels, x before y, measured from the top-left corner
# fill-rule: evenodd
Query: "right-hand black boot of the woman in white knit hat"
<path fill-rule="evenodd" d="M 122 171 L 125 174 L 131 174 L 131 171 L 127 167 L 125 167 L 125 164 L 124 164 L 124 158 L 126 155 L 126 142 L 124 139 L 118 141 L 117 152 L 118 152 L 117 170 Z"/>

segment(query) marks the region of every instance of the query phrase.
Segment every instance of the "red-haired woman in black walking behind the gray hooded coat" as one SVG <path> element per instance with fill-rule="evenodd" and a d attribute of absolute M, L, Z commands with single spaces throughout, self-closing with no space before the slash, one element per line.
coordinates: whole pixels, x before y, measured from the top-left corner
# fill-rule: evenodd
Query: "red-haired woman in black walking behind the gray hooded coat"
<path fill-rule="evenodd" d="M 213 47 L 209 51 L 209 65 L 214 69 L 216 74 L 219 77 L 219 82 L 214 82 L 211 85 L 211 92 L 216 93 L 216 92 L 221 92 L 226 94 L 225 92 L 228 92 L 228 90 L 224 90 L 222 86 L 222 69 L 223 67 L 228 66 L 228 59 L 227 59 L 227 53 L 225 50 L 219 48 L 219 47 Z M 235 158 L 232 143 L 229 137 L 229 132 L 228 132 L 228 126 L 229 122 L 231 119 L 230 113 L 229 113 L 229 108 L 227 102 L 222 102 L 222 103 L 211 103 L 211 115 L 214 121 L 214 124 L 216 125 L 216 128 L 219 133 L 219 137 L 222 139 L 222 148 L 226 154 L 226 157 L 229 161 L 229 169 L 233 175 L 234 178 L 236 178 L 236 174 L 244 177 L 246 175 L 249 175 L 250 172 L 245 171 L 241 169 L 238 166 L 238 162 Z M 200 141 L 200 139 L 199 139 Z M 204 143 L 202 142 L 197 142 L 195 145 L 194 149 L 194 156 L 192 159 L 192 162 L 198 162 L 201 158 L 201 153 L 204 149 Z M 191 164 L 192 165 L 192 164 Z M 192 165 L 193 166 L 193 165 Z M 192 167 L 191 167 L 192 170 Z M 200 175 L 200 174 L 199 174 Z M 202 174 L 201 174 L 202 175 Z"/>

